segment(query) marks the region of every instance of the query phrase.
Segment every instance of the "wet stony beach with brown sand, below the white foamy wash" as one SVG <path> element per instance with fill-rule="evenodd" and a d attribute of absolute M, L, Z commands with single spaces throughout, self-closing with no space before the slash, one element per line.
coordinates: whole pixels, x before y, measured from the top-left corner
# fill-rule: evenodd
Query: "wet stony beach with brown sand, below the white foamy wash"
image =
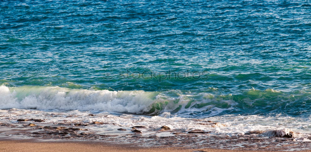
<path fill-rule="evenodd" d="M 142 132 L 118 131 L 115 135 L 102 135 L 85 129 L 85 125 L 72 123 L 29 122 L 3 123 L 0 125 L 0 152 L 2 151 L 303 151 L 311 150 L 309 142 L 295 142 L 292 138 L 245 135 L 230 137 L 208 132 L 180 130 Z M 0 123 L 1 124 L 1 123 Z M 40 125 L 40 126 L 39 126 Z M 41 126 L 42 125 L 42 126 Z M 94 124 L 86 124 L 88 126 Z M 54 127 L 57 126 L 57 127 Z M 109 127 L 109 126 L 107 126 Z M 139 126 L 136 126 L 139 127 Z M 107 132 L 105 132 L 106 134 Z M 108 132 L 109 133 L 109 132 Z M 128 134 L 129 133 L 129 134 Z M 109 144 L 108 144 L 109 143 Z M 114 144 L 111 144 L 114 143 Z M 174 146 L 174 147 L 173 147 Z M 116 149 L 117 147 L 117 149 Z M 151 148 L 152 147 L 152 148 Z M 159 149 L 161 147 L 161 149 Z M 202 148 L 202 149 L 201 149 Z M 191 150 L 189 150 L 191 149 Z M 206 150 L 205 150 L 206 149 Z"/>

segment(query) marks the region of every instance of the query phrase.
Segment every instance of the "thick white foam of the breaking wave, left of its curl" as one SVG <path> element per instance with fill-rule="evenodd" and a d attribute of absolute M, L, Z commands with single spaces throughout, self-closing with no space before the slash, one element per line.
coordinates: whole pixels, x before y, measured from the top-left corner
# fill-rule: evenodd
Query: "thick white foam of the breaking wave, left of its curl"
<path fill-rule="evenodd" d="M 78 90 L 60 87 L 0 86 L 0 108 L 38 108 L 71 110 L 104 110 L 115 112 L 148 112 L 154 103 L 153 92 Z"/>

